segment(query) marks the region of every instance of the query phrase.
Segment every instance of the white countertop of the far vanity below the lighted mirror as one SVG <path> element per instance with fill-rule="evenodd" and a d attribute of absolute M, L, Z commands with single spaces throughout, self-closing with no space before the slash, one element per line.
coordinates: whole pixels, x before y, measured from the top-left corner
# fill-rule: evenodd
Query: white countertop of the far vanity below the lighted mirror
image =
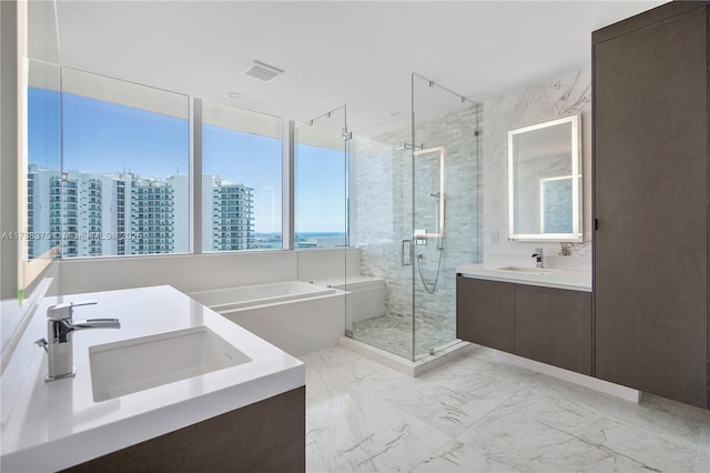
<path fill-rule="evenodd" d="M 591 271 L 589 270 L 538 269 L 534 265 L 530 265 L 529 272 L 501 270 L 506 266 L 508 265 L 504 263 L 468 264 L 456 268 L 456 273 L 474 279 L 591 292 Z M 523 266 L 523 269 L 528 270 L 527 266 Z"/>

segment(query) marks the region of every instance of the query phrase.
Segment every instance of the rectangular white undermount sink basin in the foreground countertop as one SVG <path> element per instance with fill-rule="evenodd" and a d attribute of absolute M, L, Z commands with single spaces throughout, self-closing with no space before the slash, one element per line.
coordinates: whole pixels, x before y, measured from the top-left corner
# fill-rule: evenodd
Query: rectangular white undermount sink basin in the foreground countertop
<path fill-rule="evenodd" d="M 89 348 L 94 402 L 251 361 L 206 326 Z"/>

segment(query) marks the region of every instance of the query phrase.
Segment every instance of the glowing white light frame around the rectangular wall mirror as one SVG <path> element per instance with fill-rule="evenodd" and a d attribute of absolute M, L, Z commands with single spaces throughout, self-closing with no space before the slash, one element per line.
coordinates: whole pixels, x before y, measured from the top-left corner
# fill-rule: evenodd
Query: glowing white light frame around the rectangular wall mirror
<path fill-rule="evenodd" d="M 572 231 L 571 233 L 515 233 L 515 185 L 514 185 L 514 138 L 517 134 L 555 127 L 564 123 L 571 124 L 571 178 L 572 178 Z M 575 179 L 577 178 L 577 179 Z M 508 131 L 508 240 L 518 241 L 582 241 L 581 228 L 581 113 L 575 113 L 540 123 L 517 128 Z"/>

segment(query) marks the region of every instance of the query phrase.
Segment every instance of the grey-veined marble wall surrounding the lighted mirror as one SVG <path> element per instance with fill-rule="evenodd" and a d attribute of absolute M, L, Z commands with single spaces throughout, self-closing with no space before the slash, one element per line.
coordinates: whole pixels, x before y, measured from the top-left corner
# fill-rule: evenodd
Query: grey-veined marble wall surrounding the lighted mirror
<path fill-rule="evenodd" d="M 575 265 L 591 264 L 591 70 L 561 78 L 484 101 L 485 140 L 483 192 L 484 224 L 480 239 L 483 261 L 500 254 L 532 254 L 542 248 L 546 255 L 559 255 L 559 243 L 508 241 L 508 130 L 581 112 L 582 129 L 582 227 L 584 241 L 575 244 Z M 494 235 L 497 234 L 498 243 Z"/>

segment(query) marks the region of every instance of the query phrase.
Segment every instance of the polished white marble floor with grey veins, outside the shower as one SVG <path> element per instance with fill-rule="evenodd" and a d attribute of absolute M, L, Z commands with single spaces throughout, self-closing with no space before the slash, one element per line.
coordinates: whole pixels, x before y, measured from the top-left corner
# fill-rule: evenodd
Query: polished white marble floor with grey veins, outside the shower
<path fill-rule="evenodd" d="M 710 412 L 640 404 L 488 349 L 409 378 L 344 348 L 306 363 L 308 472 L 710 471 Z"/>

